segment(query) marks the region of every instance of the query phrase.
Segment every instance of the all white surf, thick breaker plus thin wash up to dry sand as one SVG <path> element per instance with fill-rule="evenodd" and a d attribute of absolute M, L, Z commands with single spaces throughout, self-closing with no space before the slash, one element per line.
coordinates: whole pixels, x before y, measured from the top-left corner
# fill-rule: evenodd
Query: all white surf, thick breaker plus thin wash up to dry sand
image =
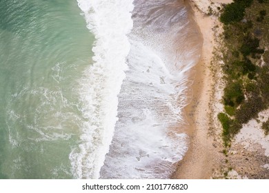
<path fill-rule="evenodd" d="M 167 179 L 186 153 L 182 109 L 201 37 L 188 5 L 166 0 L 77 0 L 96 38 L 79 80 L 79 179 Z"/>

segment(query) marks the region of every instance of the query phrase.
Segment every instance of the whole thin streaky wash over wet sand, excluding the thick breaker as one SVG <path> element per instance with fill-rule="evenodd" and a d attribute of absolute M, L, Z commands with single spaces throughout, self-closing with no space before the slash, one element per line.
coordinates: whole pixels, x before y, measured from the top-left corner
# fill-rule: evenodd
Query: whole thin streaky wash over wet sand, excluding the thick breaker
<path fill-rule="evenodd" d="M 129 69 L 102 179 L 167 179 L 186 153 L 182 109 L 201 39 L 178 1 L 137 0 Z"/>

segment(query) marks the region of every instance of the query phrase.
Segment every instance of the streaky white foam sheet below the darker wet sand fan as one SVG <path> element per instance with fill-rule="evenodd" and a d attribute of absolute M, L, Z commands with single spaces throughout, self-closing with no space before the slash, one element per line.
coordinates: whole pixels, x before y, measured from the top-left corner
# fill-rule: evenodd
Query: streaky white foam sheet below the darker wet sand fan
<path fill-rule="evenodd" d="M 160 52 L 131 44 L 119 121 L 101 178 L 166 179 L 187 150 L 187 135 L 174 130 L 183 122 L 186 77 L 171 74 Z"/>

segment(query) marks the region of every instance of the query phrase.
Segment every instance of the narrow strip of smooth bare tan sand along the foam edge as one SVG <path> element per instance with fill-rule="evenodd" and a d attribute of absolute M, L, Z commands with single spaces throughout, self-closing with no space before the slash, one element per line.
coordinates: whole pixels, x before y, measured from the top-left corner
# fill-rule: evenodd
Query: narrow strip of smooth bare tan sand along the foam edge
<path fill-rule="evenodd" d="M 208 2 L 208 1 L 207 1 Z M 229 0 L 214 1 L 230 3 Z M 210 70 L 213 51 L 216 45 L 214 26 L 219 24 L 218 18 L 205 15 L 208 7 L 202 1 L 189 2 L 194 19 L 203 37 L 201 59 L 193 70 L 196 71 L 192 84 L 192 101 L 185 109 L 188 121 L 190 146 L 188 152 L 179 163 L 171 179 L 210 179 L 216 169 L 219 169 L 222 154 L 222 144 L 217 143 L 215 134 L 210 134 L 210 117 L 212 117 L 212 96 L 215 92 L 214 73 Z M 200 4 L 199 4 L 200 3 Z M 206 3 L 205 3 L 206 4 Z"/>

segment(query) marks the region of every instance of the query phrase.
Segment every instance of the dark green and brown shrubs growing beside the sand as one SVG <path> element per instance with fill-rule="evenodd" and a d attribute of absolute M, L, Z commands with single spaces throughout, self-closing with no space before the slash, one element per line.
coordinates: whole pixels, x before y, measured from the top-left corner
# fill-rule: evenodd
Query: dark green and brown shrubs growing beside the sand
<path fill-rule="evenodd" d="M 218 119 L 227 147 L 244 123 L 269 108 L 269 1 L 235 0 L 223 8 L 224 112 Z M 269 132 L 269 120 L 263 123 Z"/>

